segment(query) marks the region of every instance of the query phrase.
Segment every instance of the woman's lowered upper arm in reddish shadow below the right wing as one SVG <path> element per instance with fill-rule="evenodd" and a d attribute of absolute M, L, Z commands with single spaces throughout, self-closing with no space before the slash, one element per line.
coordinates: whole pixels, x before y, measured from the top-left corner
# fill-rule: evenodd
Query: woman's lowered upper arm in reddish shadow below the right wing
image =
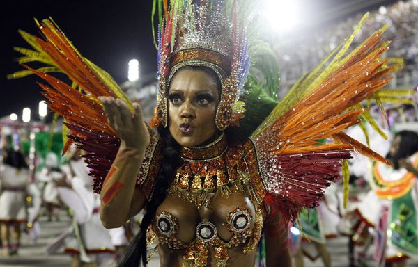
<path fill-rule="evenodd" d="M 291 267 L 292 259 L 288 248 L 287 225 L 281 216 L 269 218 L 264 225 L 265 254 L 267 267 Z"/>

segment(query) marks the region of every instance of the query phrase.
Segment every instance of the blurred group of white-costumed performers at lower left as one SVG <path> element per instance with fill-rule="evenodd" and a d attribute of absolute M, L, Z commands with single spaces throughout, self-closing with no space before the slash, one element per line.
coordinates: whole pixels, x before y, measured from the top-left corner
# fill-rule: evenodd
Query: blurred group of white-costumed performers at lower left
<path fill-rule="evenodd" d="M 68 254 L 72 267 L 116 266 L 137 224 L 132 219 L 116 229 L 103 227 L 100 196 L 91 189 L 93 180 L 82 151 L 71 146 L 61 156 L 61 133 L 49 138 L 49 133 L 32 131 L 33 142 L 26 149 L 26 129 L 1 130 L 1 257 L 19 257 L 22 234 L 37 243 L 40 234 L 48 232 L 40 223 L 43 218 L 67 223 L 59 236 L 49 239 L 45 257 Z"/>

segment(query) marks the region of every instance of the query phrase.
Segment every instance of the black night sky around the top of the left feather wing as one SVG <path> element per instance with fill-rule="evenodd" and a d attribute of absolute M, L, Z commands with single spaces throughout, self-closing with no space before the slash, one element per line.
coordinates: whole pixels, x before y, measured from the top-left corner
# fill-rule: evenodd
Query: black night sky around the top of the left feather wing
<path fill-rule="evenodd" d="M 35 76 L 7 80 L 6 75 L 22 70 L 13 46 L 29 47 L 17 29 L 38 35 L 33 17 L 51 16 L 83 56 L 102 67 L 116 82 L 127 80 L 127 62 L 137 58 L 141 74 L 155 72 L 156 50 L 150 26 L 152 1 L 98 0 L 2 0 L 0 117 L 17 113 L 29 106 L 38 113 L 42 100 Z"/>

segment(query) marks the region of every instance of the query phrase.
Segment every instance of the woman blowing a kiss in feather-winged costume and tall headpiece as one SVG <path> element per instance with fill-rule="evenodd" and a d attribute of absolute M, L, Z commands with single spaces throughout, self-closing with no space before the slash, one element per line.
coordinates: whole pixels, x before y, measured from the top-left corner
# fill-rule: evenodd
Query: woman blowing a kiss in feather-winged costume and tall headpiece
<path fill-rule="evenodd" d="M 277 104 L 261 89 L 267 70 L 249 71 L 244 4 L 155 1 L 159 90 L 150 126 L 157 132 L 54 22 L 38 23 L 47 41 L 21 31 L 33 50 L 17 51 L 49 65 L 28 68 L 52 86 L 40 85 L 65 118 L 66 147 L 75 142 L 85 152 L 104 226 L 146 209 L 121 266 L 146 265 L 147 237 L 157 238 L 161 266 L 254 266 L 263 233 L 267 266 L 291 266 L 288 221 L 316 205 L 341 165 L 347 169 L 350 151 L 387 162 L 343 133 L 370 119 L 359 102 L 379 99 L 396 69 L 380 58 L 384 29 L 347 54 L 357 26 Z M 74 88 L 48 71 L 64 72 Z M 334 143 L 316 141 L 323 138 Z"/>

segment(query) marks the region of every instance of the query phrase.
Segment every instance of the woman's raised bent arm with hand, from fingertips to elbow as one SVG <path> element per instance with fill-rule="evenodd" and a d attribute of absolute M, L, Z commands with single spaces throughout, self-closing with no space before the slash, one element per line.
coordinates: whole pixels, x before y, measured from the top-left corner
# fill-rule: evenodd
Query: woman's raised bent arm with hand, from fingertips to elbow
<path fill-rule="evenodd" d="M 118 154 L 100 193 L 102 223 L 106 228 L 115 228 L 123 225 L 146 204 L 146 196 L 135 188 L 135 184 L 150 135 L 139 104 L 134 104 L 132 114 L 120 99 L 101 97 L 100 101 L 109 124 L 121 138 Z"/>

